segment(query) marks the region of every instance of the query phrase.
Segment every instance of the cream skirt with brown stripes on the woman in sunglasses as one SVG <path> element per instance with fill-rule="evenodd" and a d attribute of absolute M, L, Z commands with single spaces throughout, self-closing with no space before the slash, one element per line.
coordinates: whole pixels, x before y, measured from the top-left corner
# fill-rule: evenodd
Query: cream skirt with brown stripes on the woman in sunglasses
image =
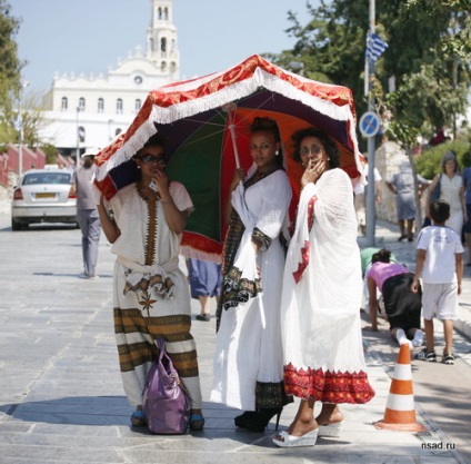
<path fill-rule="evenodd" d="M 117 267 L 122 266 L 117 264 Z M 150 300 L 130 293 L 124 296 L 121 279 L 116 280 L 114 333 L 129 403 L 134 407 L 142 404 L 146 377 L 158 354 L 154 340 L 160 337 L 166 340 L 167 352 L 189 393 L 191 408 L 201 408 L 198 355 L 190 334 L 191 307 L 186 277 L 181 274 L 181 282 L 173 277 L 180 292 L 169 300 Z"/>

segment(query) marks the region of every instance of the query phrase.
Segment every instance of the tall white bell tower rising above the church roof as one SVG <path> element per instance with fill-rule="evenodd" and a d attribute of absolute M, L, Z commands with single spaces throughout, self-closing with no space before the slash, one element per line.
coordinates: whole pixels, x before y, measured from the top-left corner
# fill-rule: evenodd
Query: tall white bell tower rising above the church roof
<path fill-rule="evenodd" d="M 179 79 L 180 53 L 173 24 L 173 0 L 150 0 L 151 20 L 147 30 L 146 57 L 170 81 Z"/>

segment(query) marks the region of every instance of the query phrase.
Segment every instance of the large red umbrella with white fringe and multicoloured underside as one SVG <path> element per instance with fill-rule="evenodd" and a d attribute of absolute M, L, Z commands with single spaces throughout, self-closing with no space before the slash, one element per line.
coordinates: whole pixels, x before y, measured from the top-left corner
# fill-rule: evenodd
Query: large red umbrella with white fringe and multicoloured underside
<path fill-rule="evenodd" d="M 237 165 L 247 169 L 252 164 L 249 128 L 257 116 L 278 122 L 284 155 L 290 152 L 294 131 L 321 128 L 337 142 L 341 167 L 352 179 L 360 179 L 362 165 L 350 89 L 307 79 L 255 55 L 229 70 L 151 91 L 129 129 L 96 157 L 96 184 L 110 199 L 136 181 L 131 157 L 159 132 L 166 140 L 167 174 L 186 186 L 196 207 L 183 234 L 182 251 L 219 260 L 227 186 Z M 302 170 L 288 156 L 285 167 L 294 206 Z"/>

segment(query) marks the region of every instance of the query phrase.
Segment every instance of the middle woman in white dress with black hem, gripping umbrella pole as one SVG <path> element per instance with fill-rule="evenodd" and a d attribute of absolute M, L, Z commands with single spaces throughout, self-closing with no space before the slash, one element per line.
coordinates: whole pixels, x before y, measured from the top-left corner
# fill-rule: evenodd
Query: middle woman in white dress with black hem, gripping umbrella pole
<path fill-rule="evenodd" d="M 289 402 L 283 388 L 280 297 L 291 186 L 278 125 L 255 118 L 253 165 L 234 172 L 226 209 L 223 285 L 217 310 L 211 401 L 243 409 L 236 425 L 261 432 Z"/>

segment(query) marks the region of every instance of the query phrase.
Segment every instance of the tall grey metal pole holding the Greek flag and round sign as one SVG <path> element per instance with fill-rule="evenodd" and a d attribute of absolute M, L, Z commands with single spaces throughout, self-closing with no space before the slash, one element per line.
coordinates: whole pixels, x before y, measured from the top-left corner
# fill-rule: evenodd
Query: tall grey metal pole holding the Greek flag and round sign
<path fill-rule="evenodd" d="M 374 33 L 374 17 L 375 17 L 375 4 L 374 0 L 370 0 L 369 8 L 369 32 L 370 40 L 371 34 Z M 368 55 L 368 53 L 367 53 Z M 372 76 L 374 75 L 374 65 L 371 57 L 365 57 L 365 70 L 368 73 L 365 75 L 365 86 L 368 89 L 368 110 L 374 111 L 374 101 L 371 95 L 371 85 L 372 85 Z M 367 246 L 374 247 L 374 229 L 375 229 L 375 182 L 374 182 L 374 151 L 375 151 L 375 140 L 373 137 L 368 137 L 368 185 L 365 188 L 365 197 L 367 197 Z"/>

